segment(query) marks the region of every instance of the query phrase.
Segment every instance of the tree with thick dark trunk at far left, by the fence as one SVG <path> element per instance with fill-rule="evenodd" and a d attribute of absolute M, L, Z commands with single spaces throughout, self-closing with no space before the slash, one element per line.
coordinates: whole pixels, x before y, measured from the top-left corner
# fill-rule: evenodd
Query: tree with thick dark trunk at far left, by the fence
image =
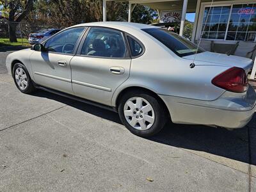
<path fill-rule="evenodd" d="M 0 6 L 4 6 L 4 11 L 8 12 L 10 42 L 17 42 L 17 25 L 31 11 L 33 0 L 0 0 Z"/>

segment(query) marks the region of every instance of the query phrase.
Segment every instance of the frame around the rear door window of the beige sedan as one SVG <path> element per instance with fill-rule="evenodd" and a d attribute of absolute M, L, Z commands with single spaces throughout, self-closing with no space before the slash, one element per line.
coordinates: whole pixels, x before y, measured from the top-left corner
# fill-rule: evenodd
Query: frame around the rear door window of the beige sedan
<path fill-rule="evenodd" d="M 125 43 L 125 56 L 123 58 L 111 58 L 111 57 L 104 57 L 104 56 L 93 56 L 93 55 L 84 55 L 81 54 L 84 42 L 88 36 L 88 33 L 90 32 L 91 29 L 95 29 L 95 28 L 99 28 L 99 29 L 109 29 L 112 31 L 118 31 L 120 33 L 122 33 L 122 36 L 124 38 L 124 43 Z M 88 29 L 86 30 L 86 33 L 84 33 L 83 38 L 81 38 L 81 42 L 79 44 L 79 47 L 77 48 L 77 52 L 76 52 L 76 56 L 82 56 L 82 57 L 86 57 L 86 58 L 102 58 L 102 59 L 113 59 L 113 60 L 131 60 L 131 53 L 130 53 L 130 49 L 129 49 L 129 45 L 127 42 L 127 39 L 125 37 L 125 33 L 124 31 L 118 30 L 118 29 L 113 29 L 113 28 L 108 28 L 108 27 L 101 27 L 101 26 L 88 26 Z"/>

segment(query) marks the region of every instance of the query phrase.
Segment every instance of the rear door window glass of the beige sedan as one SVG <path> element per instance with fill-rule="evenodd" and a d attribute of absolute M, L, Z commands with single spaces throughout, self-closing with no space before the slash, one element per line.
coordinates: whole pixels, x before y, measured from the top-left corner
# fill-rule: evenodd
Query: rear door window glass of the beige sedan
<path fill-rule="evenodd" d="M 122 32 L 107 28 L 90 29 L 81 50 L 81 55 L 106 58 L 124 58 L 125 53 Z"/>

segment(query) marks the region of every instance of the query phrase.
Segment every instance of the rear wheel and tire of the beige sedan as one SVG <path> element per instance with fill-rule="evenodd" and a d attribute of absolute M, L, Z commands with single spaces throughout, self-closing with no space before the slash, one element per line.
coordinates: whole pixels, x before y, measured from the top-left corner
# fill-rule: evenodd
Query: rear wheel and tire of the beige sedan
<path fill-rule="evenodd" d="M 157 134 L 166 123 L 166 110 L 150 93 L 134 91 L 120 99 L 118 113 L 122 123 L 133 134 L 149 137 Z"/>

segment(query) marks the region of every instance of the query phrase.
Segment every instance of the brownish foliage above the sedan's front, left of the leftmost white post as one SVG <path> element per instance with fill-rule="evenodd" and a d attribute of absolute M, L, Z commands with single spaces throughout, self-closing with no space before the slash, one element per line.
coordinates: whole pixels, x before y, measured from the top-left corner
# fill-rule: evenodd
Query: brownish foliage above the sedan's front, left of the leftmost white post
<path fill-rule="evenodd" d="M 97 21 L 97 13 L 100 13 L 99 1 L 37 0 L 33 11 L 29 14 L 29 22 L 36 20 L 65 28 L 81 22 Z"/>

